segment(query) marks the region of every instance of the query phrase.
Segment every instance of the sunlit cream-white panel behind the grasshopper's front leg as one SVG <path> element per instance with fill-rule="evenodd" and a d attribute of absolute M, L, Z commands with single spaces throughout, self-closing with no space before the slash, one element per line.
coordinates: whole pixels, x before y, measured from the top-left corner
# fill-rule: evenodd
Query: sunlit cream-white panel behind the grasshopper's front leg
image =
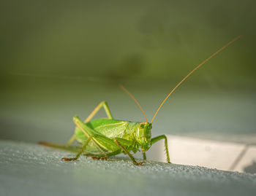
<path fill-rule="evenodd" d="M 170 135 L 167 135 L 167 141 L 173 163 L 239 172 L 251 168 L 250 172 L 256 173 L 255 145 Z M 159 157 L 153 160 L 165 162 L 164 141 L 154 147 L 162 153 L 158 153 Z"/>

